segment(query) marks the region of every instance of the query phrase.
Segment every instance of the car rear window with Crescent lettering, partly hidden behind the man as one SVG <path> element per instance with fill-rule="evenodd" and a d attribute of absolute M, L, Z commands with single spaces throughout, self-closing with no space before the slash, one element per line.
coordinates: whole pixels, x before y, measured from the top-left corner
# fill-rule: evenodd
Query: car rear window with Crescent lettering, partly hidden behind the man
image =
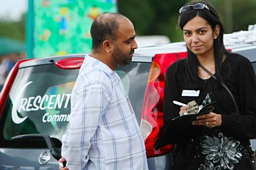
<path fill-rule="evenodd" d="M 138 122 L 149 70 L 150 63 L 132 63 L 116 68 Z M 25 143 L 17 144 L 11 138 L 32 133 L 44 133 L 61 141 L 68 128 L 70 96 L 78 71 L 63 70 L 55 64 L 20 68 L 0 121 L 0 146 L 29 147 Z"/>

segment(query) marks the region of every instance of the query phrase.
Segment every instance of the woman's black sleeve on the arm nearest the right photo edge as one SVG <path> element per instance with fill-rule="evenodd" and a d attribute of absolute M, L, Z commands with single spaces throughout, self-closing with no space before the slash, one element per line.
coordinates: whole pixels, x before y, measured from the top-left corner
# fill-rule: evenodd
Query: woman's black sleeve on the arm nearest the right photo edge
<path fill-rule="evenodd" d="M 222 114 L 222 127 L 229 129 L 231 135 L 240 139 L 256 138 L 256 77 L 250 61 L 240 59 L 236 76 L 239 92 L 240 115 Z"/>

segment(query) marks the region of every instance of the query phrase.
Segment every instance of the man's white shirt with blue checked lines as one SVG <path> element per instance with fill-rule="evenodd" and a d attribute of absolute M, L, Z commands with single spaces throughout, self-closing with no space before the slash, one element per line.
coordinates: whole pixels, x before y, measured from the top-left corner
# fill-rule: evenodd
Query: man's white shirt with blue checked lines
<path fill-rule="evenodd" d="M 145 170 L 146 149 L 120 77 L 86 55 L 71 95 L 62 156 L 70 170 Z"/>

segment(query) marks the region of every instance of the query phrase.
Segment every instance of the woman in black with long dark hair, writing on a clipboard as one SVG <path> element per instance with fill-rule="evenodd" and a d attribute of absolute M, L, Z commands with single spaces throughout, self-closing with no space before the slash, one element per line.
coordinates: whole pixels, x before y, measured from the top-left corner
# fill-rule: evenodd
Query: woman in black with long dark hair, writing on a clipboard
<path fill-rule="evenodd" d="M 172 101 L 216 104 L 212 112 L 193 121 L 190 135 L 176 139 L 173 170 L 254 169 L 249 139 L 256 138 L 256 78 L 250 61 L 224 48 L 222 22 L 206 2 L 183 6 L 179 26 L 188 57 L 173 63 L 166 72 L 164 130 L 170 120 L 186 111 L 186 106 L 170 104 Z M 234 95 L 240 115 L 221 82 Z"/>

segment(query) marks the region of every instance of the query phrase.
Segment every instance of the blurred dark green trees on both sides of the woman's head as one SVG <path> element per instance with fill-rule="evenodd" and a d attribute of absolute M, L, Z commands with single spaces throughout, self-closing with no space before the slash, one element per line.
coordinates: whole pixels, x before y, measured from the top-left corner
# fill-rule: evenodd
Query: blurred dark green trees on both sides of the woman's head
<path fill-rule="evenodd" d="M 118 0 L 121 14 L 134 23 L 138 35 L 167 35 L 172 42 L 183 41 L 177 29 L 179 9 L 190 0 Z M 224 22 L 225 33 L 247 30 L 256 23 L 255 0 L 209 0 Z M 228 12 L 230 15 L 228 15 Z M 232 21 L 229 21 L 229 20 Z M 230 25 L 231 24 L 231 25 Z"/>

